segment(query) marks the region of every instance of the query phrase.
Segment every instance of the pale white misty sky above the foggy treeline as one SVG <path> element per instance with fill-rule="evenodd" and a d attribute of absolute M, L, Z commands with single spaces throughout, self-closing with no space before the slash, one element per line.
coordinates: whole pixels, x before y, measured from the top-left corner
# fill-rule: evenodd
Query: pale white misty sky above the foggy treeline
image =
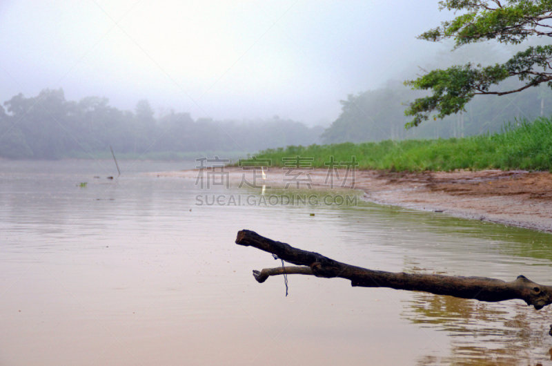
<path fill-rule="evenodd" d="M 437 1 L 1 1 L 1 102 L 63 88 L 133 110 L 333 121 L 439 45 Z"/>

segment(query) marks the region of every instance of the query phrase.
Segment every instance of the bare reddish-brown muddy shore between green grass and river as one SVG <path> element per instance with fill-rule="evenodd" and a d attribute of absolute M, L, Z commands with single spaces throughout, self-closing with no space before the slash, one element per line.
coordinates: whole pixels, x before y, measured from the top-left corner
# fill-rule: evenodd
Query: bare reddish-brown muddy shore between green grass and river
<path fill-rule="evenodd" d="M 253 182 L 253 172 L 225 168 L 230 182 L 240 182 L 245 174 Z M 183 177 L 195 180 L 197 171 L 150 173 L 157 177 Z M 285 171 L 270 168 L 266 184 L 282 186 Z M 329 188 L 326 169 L 308 171 L 313 189 Z M 344 171 L 340 171 L 344 177 Z M 257 183 L 259 180 L 257 180 Z M 350 186 L 352 180 L 347 182 Z M 302 184 L 302 187 L 304 184 Z M 526 171 L 460 171 L 388 173 L 356 171 L 355 189 L 364 191 L 364 200 L 424 211 L 501 222 L 518 227 L 552 231 L 552 174 Z"/>

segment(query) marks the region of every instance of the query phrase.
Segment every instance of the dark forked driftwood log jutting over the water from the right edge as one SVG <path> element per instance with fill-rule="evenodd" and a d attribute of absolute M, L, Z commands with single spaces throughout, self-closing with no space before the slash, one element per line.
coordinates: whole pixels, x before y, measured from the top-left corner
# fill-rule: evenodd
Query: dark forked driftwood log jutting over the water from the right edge
<path fill-rule="evenodd" d="M 539 310 L 552 303 L 552 286 L 539 285 L 524 276 L 511 282 L 486 277 L 456 277 L 416 273 L 373 271 L 337 262 L 319 253 L 304 251 L 283 242 L 276 242 L 255 233 L 242 230 L 237 233 L 236 244 L 268 251 L 278 258 L 301 267 L 268 268 L 253 271 L 258 282 L 270 276 L 304 274 L 323 278 L 345 278 L 351 285 L 360 287 L 391 287 L 408 291 L 425 291 L 436 295 L 449 295 L 480 301 L 497 302 L 520 299 Z M 551 330 L 552 335 L 552 330 Z"/>

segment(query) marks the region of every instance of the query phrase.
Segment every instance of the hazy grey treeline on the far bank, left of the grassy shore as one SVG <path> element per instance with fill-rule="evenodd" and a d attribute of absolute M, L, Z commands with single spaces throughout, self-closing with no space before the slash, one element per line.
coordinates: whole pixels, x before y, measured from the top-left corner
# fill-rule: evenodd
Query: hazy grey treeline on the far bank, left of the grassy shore
<path fill-rule="evenodd" d="M 179 159 L 189 153 L 233 152 L 309 145 L 322 127 L 308 128 L 290 119 L 253 121 L 193 120 L 171 111 L 155 118 L 147 100 L 135 110 L 119 110 L 106 97 L 65 99 L 63 90 L 43 90 L 37 97 L 12 97 L 0 106 L 0 157 L 59 159 L 110 154 L 123 157 Z M 188 155 L 186 155 L 188 153 Z"/>

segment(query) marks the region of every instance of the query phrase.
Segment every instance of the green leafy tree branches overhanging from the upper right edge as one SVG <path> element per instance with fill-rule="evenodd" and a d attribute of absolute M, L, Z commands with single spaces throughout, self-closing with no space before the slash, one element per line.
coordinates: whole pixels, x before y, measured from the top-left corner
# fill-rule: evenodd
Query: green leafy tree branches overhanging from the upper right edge
<path fill-rule="evenodd" d="M 503 44 L 521 44 L 530 37 L 552 37 L 552 1 L 529 0 L 446 0 L 440 10 L 462 12 L 452 21 L 428 30 L 419 39 L 454 39 L 455 48 L 476 42 L 496 40 Z M 552 46 L 531 46 L 517 52 L 504 64 L 483 67 L 468 63 L 446 70 L 432 70 L 405 84 L 415 90 L 430 90 L 431 95 L 415 99 L 405 111 L 413 120 L 406 127 L 418 126 L 431 113 L 434 119 L 464 110 L 475 95 L 506 95 L 547 83 L 552 88 Z M 491 90 L 509 77 L 522 81 L 520 88 Z"/>

